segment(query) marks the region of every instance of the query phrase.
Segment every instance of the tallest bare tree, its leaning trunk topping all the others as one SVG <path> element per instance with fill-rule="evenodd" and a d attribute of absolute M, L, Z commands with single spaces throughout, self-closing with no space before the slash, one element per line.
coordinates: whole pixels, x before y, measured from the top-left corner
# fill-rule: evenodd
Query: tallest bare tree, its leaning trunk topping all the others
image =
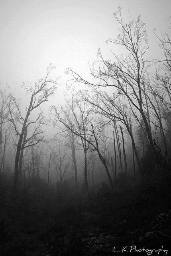
<path fill-rule="evenodd" d="M 142 118 L 145 125 L 147 140 L 149 141 L 153 159 L 155 159 L 157 149 L 151 134 L 149 120 L 145 113 L 143 98 L 143 83 L 146 72 L 143 56 L 148 49 L 146 25 L 142 22 L 140 16 L 136 20 L 131 20 L 130 18 L 129 22 L 124 24 L 121 8 L 118 9 L 114 16 L 120 25 L 120 34 L 116 40 L 109 38 L 107 42 L 122 46 L 128 54 L 121 56 L 121 58 L 114 54 L 115 61 L 112 62 L 104 60 L 99 49 L 98 56 L 100 60 L 96 62 L 98 69 L 91 70 L 92 76 L 97 81 L 94 83 L 83 79 L 76 72 L 69 70 L 73 74 L 73 79 L 78 82 L 98 88 L 114 88 L 115 98 L 122 95 L 136 109 L 136 112 L 141 116 L 139 119 Z"/>

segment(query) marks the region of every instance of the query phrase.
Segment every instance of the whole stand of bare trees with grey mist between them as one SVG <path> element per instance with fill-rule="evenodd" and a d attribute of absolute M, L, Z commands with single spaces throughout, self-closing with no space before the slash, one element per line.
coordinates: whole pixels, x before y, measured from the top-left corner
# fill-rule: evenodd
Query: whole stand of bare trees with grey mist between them
<path fill-rule="evenodd" d="M 53 66 L 34 86 L 23 84 L 27 106 L 10 88 L 0 89 L 0 172 L 14 176 L 14 193 L 29 178 L 88 193 L 101 181 L 117 189 L 142 177 L 169 175 L 170 28 L 162 36 L 154 30 L 163 58 L 148 60 L 140 16 L 124 23 L 121 8 L 114 16 L 118 36 L 106 42 L 124 54 L 111 52 L 112 60 L 105 60 L 99 49 L 91 81 L 67 69 L 65 102 L 51 106 L 50 117 L 42 109 L 58 90 L 58 79 L 50 78 Z M 53 130 L 51 138 L 46 128 Z"/>

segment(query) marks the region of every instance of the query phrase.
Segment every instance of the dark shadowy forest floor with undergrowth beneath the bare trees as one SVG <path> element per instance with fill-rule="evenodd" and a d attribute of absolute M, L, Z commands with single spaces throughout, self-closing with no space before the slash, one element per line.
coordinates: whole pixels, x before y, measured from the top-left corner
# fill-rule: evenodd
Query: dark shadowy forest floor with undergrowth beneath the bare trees
<path fill-rule="evenodd" d="M 0 255 L 170 256 L 170 184 L 149 178 L 74 196 L 66 183 L 52 190 L 30 180 L 14 197 L 12 178 L 1 177 Z"/>

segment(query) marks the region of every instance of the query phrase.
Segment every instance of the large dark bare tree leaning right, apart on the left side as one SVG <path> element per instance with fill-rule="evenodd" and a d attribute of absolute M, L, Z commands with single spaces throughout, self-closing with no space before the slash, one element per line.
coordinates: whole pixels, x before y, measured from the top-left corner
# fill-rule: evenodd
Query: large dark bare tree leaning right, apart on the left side
<path fill-rule="evenodd" d="M 40 110 L 40 112 L 37 114 L 37 118 L 35 118 L 34 120 L 30 120 L 29 116 L 33 111 L 35 112 L 35 110 L 39 108 L 41 104 L 48 101 L 49 97 L 53 96 L 55 93 L 56 87 L 54 84 L 57 83 L 57 80 L 51 80 L 49 78 L 49 74 L 52 69 L 53 67 L 49 66 L 49 68 L 47 68 L 45 78 L 35 82 L 34 87 L 32 87 L 31 85 L 26 86 L 25 84 L 23 84 L 23 87 L 26 90 L 26 92 L 31 94 L 29 106 L 26 111 L 25 117 L 23 117 L 20 110 L 20 106 L 18 105 L 18 102 L 16 101 L 14 96 L 12 94 L 10 95 L 10 115 L 8 117 L 8 120 L 12 123 L 16 135 L 18 136 L 17 151 L 15 158 L 14 193 L 18 188 L 19 159 L 21 150 L 23 148 L 22 143 L 24 142 L 23 138 L 26 130 L 28 130 L 28 128 L 30 127 L 33 128 L 33 125 L 35 125 L 32 134 L 28 135 L 26 138 L 24 148 L 45 141 L 44 136 L 41 136 L 44 132 L 43 130 L 41 130 L 41 124 L 45 124 L 45 119 L 42 110 Z M 52 86 L 49 86 L 50 84 L 52 84 Z"/>

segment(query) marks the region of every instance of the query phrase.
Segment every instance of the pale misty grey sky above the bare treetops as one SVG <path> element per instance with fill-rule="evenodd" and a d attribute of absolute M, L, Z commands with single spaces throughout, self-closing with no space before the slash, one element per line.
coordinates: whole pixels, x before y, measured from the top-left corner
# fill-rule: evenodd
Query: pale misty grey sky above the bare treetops
<path fill-rule="evenodd" d="M 147 23 L 149 58 L 155 58 L 153 28 L 159 34 L 167 30 L 170 0 L 0 0 L 0 82 L 20 94 L 22 82 L 42 78 L 50 63 L 57 67 L 53 76 L 61 76 L 61 84 L 68 67 L 87 76 L 99 47 L 110 56 L 105 40 L 118 34 L 112 14 L 119 5 L 125 20 L 128 8 L 132 18 L 141 14 Z"/>

